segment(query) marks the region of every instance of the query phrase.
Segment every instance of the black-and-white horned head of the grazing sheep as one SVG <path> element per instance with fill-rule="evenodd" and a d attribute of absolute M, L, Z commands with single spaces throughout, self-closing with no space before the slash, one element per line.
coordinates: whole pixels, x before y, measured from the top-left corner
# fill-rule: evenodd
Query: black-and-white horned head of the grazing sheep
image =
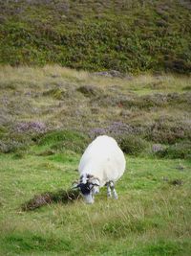
<path fill-rule="evenodd" d="M 94 203 L 95 195 L 99 192 L 99 179 L 93 175 L 81 175 L 80 180 L 74 183 L 74 188 L 79 188 L 86 203 Z"/>

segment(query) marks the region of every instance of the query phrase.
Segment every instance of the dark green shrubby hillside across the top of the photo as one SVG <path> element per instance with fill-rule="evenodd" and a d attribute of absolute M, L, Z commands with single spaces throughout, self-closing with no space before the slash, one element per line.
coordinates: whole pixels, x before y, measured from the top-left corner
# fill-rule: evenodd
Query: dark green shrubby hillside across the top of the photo
<path fill-rule="evenodd" d="M 1 1 L 0 61 L 138 73 L 191 71 L 189 1 Z"/>

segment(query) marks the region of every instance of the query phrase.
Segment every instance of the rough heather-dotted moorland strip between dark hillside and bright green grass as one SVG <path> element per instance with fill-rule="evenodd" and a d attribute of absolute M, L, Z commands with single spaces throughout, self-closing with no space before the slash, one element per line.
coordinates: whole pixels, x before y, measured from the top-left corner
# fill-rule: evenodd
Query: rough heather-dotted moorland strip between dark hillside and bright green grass
<path fill-rule="evenodd" d="M 59 66 L 2 67 L 0 151 L 82 152 L 97 135 L 123 151 L 190 158 L 190 79 L 105 78 Z"/>

